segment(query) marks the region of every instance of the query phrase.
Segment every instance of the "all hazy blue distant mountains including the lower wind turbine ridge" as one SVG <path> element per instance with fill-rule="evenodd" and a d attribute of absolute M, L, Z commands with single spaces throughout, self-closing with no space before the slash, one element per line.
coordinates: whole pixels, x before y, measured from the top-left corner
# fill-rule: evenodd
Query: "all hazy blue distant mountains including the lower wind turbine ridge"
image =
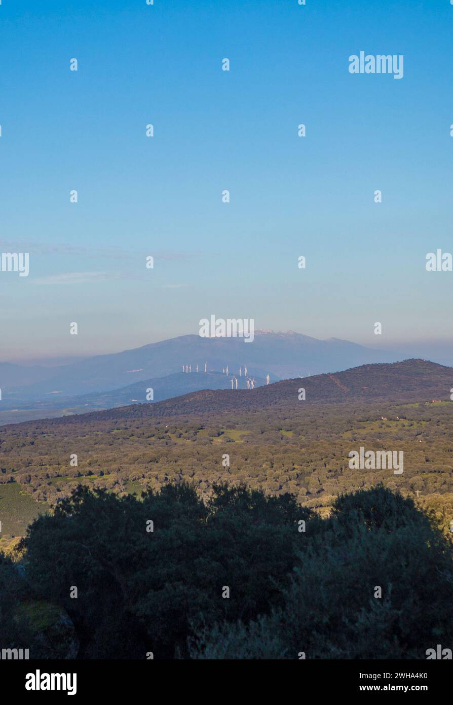
<path fill-rule="evenodd" d="M 228 391 L 232 374 L 240 380 L 240 391 L 247 387 L 246 365 L 256 388 L 265 384 L 267 374 L 272 382 L 309 376 L 307 388 L 311 388 L 319 374 L 402 359 L 400 353 L 338 338 L 320 341 L 292 331 L 255 331 L 252 343 L 244 343 L 244 338 L 180 336 L 58 367 L 4 362 L 0 363 L 0 425 L 143 403 L 149 388 L 154 390 L 154 402 L 203 390 Z M 187 365 L 191 372 L 182 372 Z M 227 366 L 229 376 L 221 372 Z"/>

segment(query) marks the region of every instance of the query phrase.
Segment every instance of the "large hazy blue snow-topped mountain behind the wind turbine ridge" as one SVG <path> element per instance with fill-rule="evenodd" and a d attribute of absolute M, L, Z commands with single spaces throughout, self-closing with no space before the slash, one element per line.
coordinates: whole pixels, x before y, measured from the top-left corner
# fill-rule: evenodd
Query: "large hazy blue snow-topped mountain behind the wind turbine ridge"
<path fill-rule="evenodd" d="M 300 333 L 256 331 L 252 343 L 244 338 L 201 338 L 180 336 L 123 353 L 97 355 L 59 367 L 24 367 L 0 363 L 0 388 L 3 399 L 44 400 L 45 395 L 80 396 L 111 391 L 137 381 L 155 379 L 182 370 L 219 371 L 226 365 L 237 374 L 247 364 L 249 374 L 287 379 L 297 375 L 335 372 L 372 362 L 395 362 L 398 353 L 364 348 L 356 343 L 330 338 L 319 341 Z"/>

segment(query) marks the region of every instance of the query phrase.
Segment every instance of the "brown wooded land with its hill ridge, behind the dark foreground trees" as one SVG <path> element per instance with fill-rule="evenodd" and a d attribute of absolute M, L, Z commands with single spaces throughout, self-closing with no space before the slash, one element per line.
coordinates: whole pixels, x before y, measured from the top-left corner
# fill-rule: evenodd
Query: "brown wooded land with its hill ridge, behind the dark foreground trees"
<path fill-rule="evenodd" d="M 290 491 L 323 509 L 341 491 L 383 482 L 419 501 L 444 495 L 449 517 L 452 376 L 452 368 L 407 360 L 11 424 L 0 429 L 0 489 L 18 483 L 20 493 L 52 505 L 80 482 L 139 494 L 186 479 L 209 496 L 214 483 L 228 480 Z M 305 402 L 297 399 L 300 386 Z M 404 474 L 349 469 L 348 453 L 361 445 L 404 450 Z M 6 525 L 16 522 L 22 496 L 0 492 Z"/>

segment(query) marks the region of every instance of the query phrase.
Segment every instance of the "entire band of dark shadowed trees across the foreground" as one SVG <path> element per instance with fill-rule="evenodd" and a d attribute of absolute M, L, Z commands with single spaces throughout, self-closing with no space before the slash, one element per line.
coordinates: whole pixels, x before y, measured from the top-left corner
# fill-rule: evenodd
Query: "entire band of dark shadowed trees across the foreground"
<path fill-rule="evenodd" d="M 185 482 L 140 500 L 79 486 L 20 551 L 19 566 L 0 560 L 1 632 L 31 658 L 425 658 L 452 644 L 451 544 L 383 486 L 324 519 L 244 485 L 214 484 L 207 502 Z M 43 640 L 44 608 L 63 636 Z"/>

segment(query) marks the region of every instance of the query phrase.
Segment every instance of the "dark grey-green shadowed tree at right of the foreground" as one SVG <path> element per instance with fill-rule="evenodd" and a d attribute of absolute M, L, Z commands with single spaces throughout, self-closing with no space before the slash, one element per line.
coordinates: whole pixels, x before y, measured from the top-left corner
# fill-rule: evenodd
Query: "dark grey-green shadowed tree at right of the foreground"
<path fill-rule="evenodd" d="M 191 657 L 404 659 L 450 647 L 452 551 L 426 516 L 377 488 L 340 498 L 328 522 L 300 556 L 283 608 L 199 629 Z"/>

